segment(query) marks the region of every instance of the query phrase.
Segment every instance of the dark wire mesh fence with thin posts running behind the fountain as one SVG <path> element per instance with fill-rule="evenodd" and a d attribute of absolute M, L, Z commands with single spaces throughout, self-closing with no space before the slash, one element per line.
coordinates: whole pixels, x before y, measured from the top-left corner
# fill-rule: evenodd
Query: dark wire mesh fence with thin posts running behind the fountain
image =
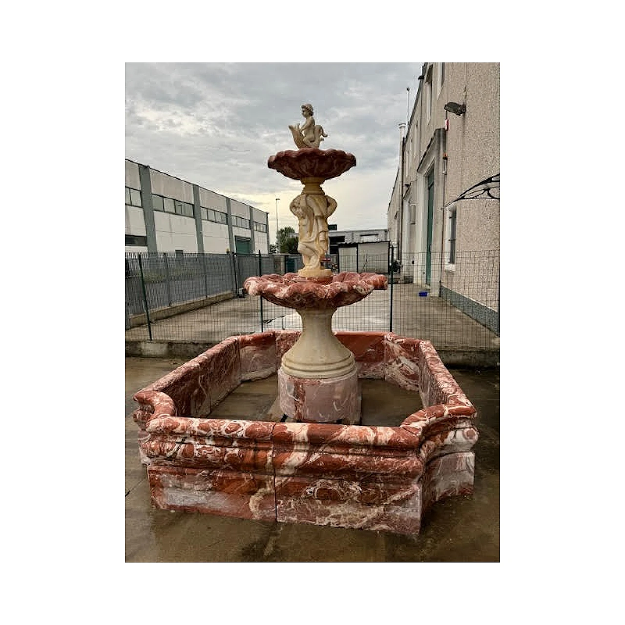
<path fill-rule="evenodd" d="M 434 253 L 366 260 L 354 271 L 374 267 L 389 287 L 337 309 L 334 331 L 393 331 L 442 349 L 498 349 L 499 251 L 457 252 L 453 264 Z M 336 259 L 327 261 L 336 267 Z M 301 329 L 296 311 L 242 288 L 247 277 L 301 267 L 301 256 L 287 254 L 126 254 L 126 340 L 216 343 Z"/>

